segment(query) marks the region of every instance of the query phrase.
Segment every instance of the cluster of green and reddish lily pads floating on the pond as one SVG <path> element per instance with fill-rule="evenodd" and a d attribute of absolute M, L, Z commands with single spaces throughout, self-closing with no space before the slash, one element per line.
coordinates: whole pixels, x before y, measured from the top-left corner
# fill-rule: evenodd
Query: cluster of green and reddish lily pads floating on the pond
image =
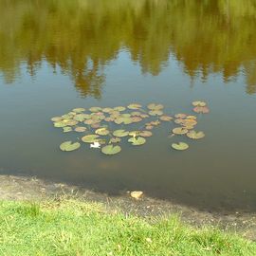
<path fill-rule="evenodd" d="M 193 101 L 195 113 L 208 113 L 209 108 L 204 101 Z M 153 130 L 161 122 L 173 122 L 178 124 L 172 131 L 174 135 L 186 135 L 192 139 L 205 137 L 203 132 L 196 132 L 194 126 L 197 124 L 197 117 L 186 114 L 176 114 L 174 117 L 165 115 L 162 104 L 151 103 L 143 108 L 138 103 L 128 106 L 117 107 L 91 107 L 89 109 L 74 108 L 69 113 L 54 117 L 54 127 L 62 128 L 64 133 L 80 133 L 81 140 L 89 143 L 90 148 L 101 148 L 105 155 L 116 155 L 121 151 L 119 142 L 125 139 L 133 146 L 140 146 L 146 143 L 146 137 L 152 137 Z M 136 130 L 126 129 L 132 124 L 139 124 Z M 115 129 L 117 125 L 122 126 Z M 64 141 L 60 145 L 62 151 L 74 151 L 81 147 L 81 142 Z M 189 145 L 185 142 L 173 143 L 175 150 L 186 150 Z"/>

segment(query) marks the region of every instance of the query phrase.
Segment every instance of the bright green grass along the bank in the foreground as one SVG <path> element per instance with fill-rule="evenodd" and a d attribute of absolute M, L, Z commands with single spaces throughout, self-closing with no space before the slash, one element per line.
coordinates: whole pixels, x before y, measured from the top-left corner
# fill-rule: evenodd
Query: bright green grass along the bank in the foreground
<path fill-rule="evenodd" d="M 256 244 L 177 217 L 145 219 L 78 200 L 0 202 L 0 255 L 256 255 Z"/>

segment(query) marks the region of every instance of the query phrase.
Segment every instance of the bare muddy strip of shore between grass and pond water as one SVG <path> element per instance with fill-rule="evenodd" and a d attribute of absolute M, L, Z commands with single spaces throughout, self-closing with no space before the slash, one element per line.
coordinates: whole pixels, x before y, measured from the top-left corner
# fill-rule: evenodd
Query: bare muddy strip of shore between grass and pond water
<path fill-rule="evenodd" d="M 110 196 L 64 183 L 54 183 L 35 177 L 0 174 L 0 200 L 36 200 L 48 198 L 77 198 L 87 202 L 101 202 L 108 210 L 122 210 L 125 214 L 139 216 L 161 216 L 177 213 L 181 219 L 194 226 L 205 225 L 235 230 L 248 239 L 256 241 L 256 213 L 248 212 L 208 212 L 174 204 L 170 201 L 143 196 L 136 200 L 129 192 Z"/>

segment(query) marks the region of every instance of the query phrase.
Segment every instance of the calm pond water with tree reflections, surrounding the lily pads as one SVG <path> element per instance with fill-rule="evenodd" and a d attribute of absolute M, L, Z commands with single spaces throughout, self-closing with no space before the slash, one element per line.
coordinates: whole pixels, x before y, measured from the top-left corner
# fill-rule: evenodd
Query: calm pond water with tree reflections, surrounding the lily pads
<path fill-rule="evenodd" d="M 202 3 L 203 2 L 203 3 Z M 256 210 L 256 5 L 247 1 L 0 1 L 0 168 L 199 209 Z M 75 107 L 164 105 L 192 114 L 194 141 L 162 123 L 119 155 L 82 147 L 51 118 Z M 125 129 L 131 129 L 125 126 Z M 184 141 L 190 148 L 174 151 Z"/>

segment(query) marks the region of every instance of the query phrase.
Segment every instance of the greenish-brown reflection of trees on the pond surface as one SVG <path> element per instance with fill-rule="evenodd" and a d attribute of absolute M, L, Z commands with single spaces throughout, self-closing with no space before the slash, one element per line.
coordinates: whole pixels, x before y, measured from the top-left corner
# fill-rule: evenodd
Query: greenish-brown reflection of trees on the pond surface
<path fill-rule="evenodd" d="M 1 1 L 0 70 L 12 82 L 22 62 L 35 75 L 46 60 L 83 96 L 100 97 L 102 67 L 124 46 L 154 75 L 171 51 L 205 81 L 212 72 L 228 81 L 243 69 L 247 93 L 255 93 L 255 27 L 253 0 Z"/>

